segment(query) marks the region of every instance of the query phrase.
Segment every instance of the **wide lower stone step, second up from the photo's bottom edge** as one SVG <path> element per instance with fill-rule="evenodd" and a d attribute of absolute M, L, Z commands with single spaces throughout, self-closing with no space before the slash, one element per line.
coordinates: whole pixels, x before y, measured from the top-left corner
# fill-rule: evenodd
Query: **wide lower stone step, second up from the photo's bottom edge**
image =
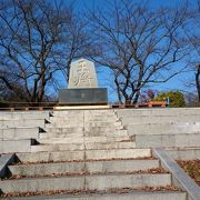
<path fill-rule="evenodd" d="M 59 178 L 26 178 L 0 181 L 3 193 L 48 190 L 109 190 L 111 188 L 166 187 L 171 184 L 169 173 L 104 174 Z"/>

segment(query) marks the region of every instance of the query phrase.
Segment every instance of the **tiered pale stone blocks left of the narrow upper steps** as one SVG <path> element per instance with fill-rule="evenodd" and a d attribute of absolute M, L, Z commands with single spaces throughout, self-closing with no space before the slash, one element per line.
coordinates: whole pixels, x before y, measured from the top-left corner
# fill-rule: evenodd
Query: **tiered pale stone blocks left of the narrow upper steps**
<path fill-rule="evenodd" d="M 49 111 L 0 112 L 0 153 L 31 152 Z"/>

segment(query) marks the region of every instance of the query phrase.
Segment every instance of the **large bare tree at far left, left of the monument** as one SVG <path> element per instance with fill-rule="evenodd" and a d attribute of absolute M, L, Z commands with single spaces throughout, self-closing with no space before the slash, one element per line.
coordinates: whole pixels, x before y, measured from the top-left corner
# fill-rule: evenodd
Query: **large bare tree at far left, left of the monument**
<path fill-rule="evenodd" d="M 71 10 L 57 6 L 44 0 L 0 2 L 0 80 L 19 99 L 42 101 L 60 68 L 56 58 Z"/>

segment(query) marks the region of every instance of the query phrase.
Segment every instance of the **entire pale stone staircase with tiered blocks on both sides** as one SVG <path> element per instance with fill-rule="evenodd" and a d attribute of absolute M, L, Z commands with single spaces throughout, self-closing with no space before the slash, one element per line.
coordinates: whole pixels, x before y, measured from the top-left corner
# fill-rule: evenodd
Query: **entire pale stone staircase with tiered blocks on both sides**
<path fill-rule="evenodd" d="M 199 154 L 198 111 L 2 112 L 0 142 L 13 147 L 3 144 L 0 152 L 16 152 L 16 161 L 0 181 L 1 197 L 187 200 L 151 148 L 164 147 L 174 158 L 182 158 L 183 150 Z"/>

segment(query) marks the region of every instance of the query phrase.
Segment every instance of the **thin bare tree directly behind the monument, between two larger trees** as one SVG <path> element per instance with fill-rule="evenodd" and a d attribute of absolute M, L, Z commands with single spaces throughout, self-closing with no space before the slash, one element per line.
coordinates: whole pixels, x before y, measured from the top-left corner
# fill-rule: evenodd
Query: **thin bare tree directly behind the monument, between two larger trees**
<path fill-rule="evenodd" d="M 73 8 L 71 8 L 73 10 Z M 72 13 L 71 21 L 64 27 L 62 32 L 62 43 L 60 47 L 62 51 L 56 58 L 60 66 L 60 70 L 66 79 L 69 81 L 70 64 L 74 59 L 84 57 L 88 58 L 94 52 L 90 33 L 87 31 L 88 22 L 82 14 Z"/>

